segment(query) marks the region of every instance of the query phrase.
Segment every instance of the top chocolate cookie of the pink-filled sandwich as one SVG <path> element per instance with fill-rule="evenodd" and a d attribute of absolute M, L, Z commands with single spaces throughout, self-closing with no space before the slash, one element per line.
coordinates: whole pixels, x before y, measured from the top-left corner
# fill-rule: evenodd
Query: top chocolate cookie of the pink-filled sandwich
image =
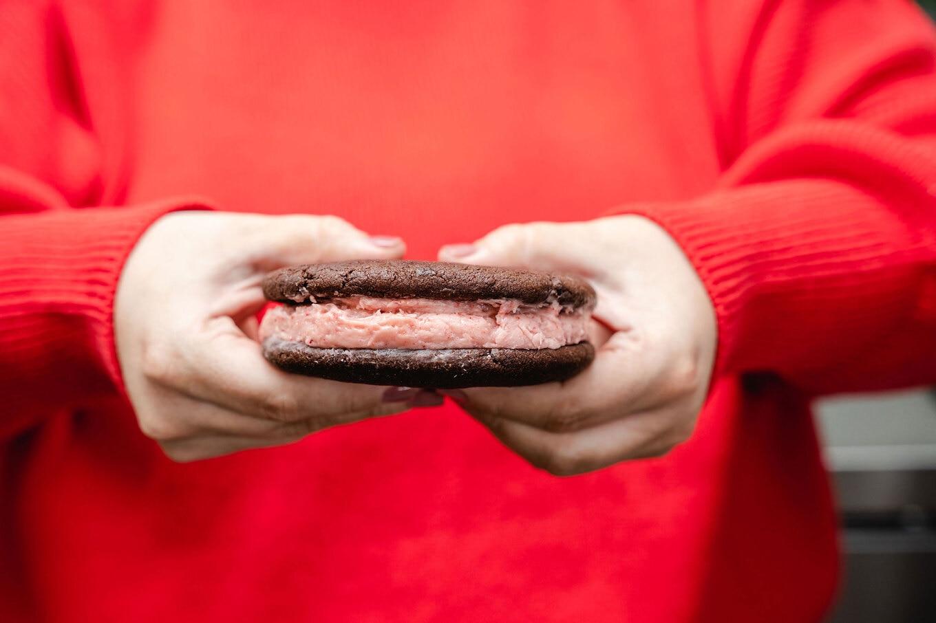
<path fill-rule="evenodd" d="M 263 294 L 284 303 L 349 296 L 514 298 L 531 305 L 558 301 L 561 305 L 583 307 L 593 306 L 595 299 L 591 285 L 569 275 L 414 260 L 352 260 L 280 268 L 263 280 Z"/>

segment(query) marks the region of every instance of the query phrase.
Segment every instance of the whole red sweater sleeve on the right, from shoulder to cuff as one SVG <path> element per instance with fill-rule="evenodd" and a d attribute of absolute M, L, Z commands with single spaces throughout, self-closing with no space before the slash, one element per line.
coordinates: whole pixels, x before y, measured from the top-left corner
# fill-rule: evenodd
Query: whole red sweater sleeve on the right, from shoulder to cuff
<path fill-rule="evenodd" d="M 932 28 L 894 0 L 764 6 L 750 29 L 710 33 L 717 187 L 620 211 L 662 225 L 694 264 L 718 317 L 716 375 L 816 394 L 936 383 Z M 734 49 L 732 30 L 746 34 Z"/>

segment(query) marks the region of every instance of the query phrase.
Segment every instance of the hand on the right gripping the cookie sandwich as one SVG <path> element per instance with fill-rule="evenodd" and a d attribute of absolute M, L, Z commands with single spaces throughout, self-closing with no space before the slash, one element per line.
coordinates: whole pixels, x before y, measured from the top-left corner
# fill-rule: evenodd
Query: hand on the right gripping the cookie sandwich
<path fill-rule="evenodd" d="M 708 391 L 715 313 L 661 227 L 638 216 L 507 225 L 439 258 L 578 274 L 598 293 L 595 318 L 607 328 L 595 323 L 597 356 L 578 376 L 444 392 L 520 456 L 572 475 L 661 456 L 689 438 Z"/>

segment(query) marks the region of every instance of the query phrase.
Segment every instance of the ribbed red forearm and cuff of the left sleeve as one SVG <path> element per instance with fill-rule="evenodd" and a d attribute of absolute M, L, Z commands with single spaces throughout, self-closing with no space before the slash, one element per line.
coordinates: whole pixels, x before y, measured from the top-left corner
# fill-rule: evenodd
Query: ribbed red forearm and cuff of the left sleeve
<path fill-rule="evenodd" d="M 112 311 L 124 260 L 154 220 L 201 207 L 169 199 L 0 216 L 0 413 L 35 415 L 37 397 L 77 407 L 119 390 Z M 0 418 L 0 436 L 28 424 Z"/>

